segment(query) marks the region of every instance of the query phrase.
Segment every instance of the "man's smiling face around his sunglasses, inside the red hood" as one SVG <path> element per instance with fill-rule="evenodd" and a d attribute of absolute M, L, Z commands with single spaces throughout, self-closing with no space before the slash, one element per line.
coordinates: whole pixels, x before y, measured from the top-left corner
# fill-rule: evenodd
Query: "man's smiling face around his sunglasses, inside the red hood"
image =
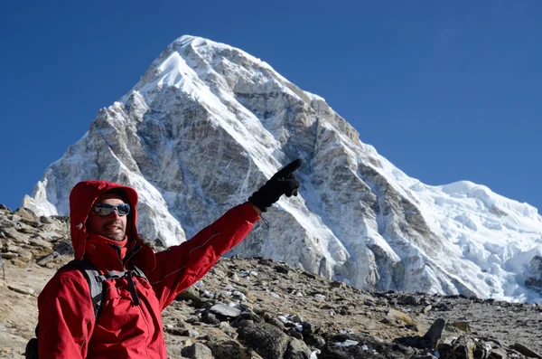
<path fill-rule="evenodd" d="M 98 203 L 117 205 L 125 203 L 117 194 L 102 194 L 96 200 Z M 119 216 L 117 210 L 109 215 L 98 215 L 90 210 L 87 220 L 87 230 L 113 241 L 124 241 L 126 235 L 126 215 Z"/>

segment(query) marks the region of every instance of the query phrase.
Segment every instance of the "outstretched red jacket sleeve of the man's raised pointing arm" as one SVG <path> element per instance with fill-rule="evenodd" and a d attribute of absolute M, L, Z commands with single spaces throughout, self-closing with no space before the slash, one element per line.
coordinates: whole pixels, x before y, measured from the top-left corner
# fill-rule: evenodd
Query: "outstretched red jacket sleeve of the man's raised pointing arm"
<path fill-rule="evenodd" d="M 156 267 L 147 277 L 160 301 L 167 307 L 182 290 L 201 279 L 220 259 L 248 234 L 259 215 L 250 203 L 240 204 L 198 232 L 168 250 L 156 253 Z"/>

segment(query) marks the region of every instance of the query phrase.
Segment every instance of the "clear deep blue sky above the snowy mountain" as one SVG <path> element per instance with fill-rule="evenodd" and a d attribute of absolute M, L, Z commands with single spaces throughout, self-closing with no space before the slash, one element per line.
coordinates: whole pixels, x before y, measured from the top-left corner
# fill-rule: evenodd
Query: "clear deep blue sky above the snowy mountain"
<path fill-rule="evenodd" d="M 0 203 L 192 34 L 322 96 L 407 175 L 542 210 L 540 19 L 539 0 L 0 2 Z"/>

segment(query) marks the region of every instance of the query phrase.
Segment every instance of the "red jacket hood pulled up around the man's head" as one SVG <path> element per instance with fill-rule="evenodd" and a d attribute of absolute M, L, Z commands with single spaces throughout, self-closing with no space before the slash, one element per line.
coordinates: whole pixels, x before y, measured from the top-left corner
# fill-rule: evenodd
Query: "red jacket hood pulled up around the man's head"
<path fill-rule="evenodd" d="M 100 195 L 114 189 L 122 191 L 124 201 L 131 207 L 126 222 L 128 242 L 137 241 L 143 244 L 137 236 L 137 192 L 135 189 L 106 181 L 82 181 L 76 184 L 70 193 L 70 233 L 76 260 L 82 260 L 85 255 L 85 245 L 89 235 L 86 222 L 92 206 Z"/>

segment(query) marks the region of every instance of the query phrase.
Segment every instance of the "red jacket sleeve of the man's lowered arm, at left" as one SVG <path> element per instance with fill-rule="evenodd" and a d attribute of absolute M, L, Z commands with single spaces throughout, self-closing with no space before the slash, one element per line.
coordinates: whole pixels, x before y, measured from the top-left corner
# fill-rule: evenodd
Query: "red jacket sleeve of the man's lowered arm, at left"
<path fill-rule="evenodd" d="M 87 356 L 94 327 L 89 284 L 78 270 L 56 274 L 38 298 L 40 359 Z"/>

